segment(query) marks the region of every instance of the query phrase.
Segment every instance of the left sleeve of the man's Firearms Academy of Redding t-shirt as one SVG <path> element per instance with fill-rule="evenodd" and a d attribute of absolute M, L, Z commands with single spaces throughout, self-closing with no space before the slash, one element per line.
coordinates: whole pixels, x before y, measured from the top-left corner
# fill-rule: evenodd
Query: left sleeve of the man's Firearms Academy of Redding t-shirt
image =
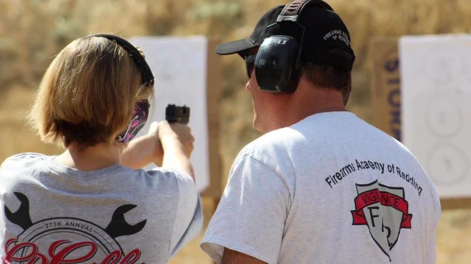
<path fill-rule="evenodd" d="M 224 248 L 276 263 L 288 215 L 281 176 L 250 155 L 236 160 L 201 248 L 221 263 Z"/>

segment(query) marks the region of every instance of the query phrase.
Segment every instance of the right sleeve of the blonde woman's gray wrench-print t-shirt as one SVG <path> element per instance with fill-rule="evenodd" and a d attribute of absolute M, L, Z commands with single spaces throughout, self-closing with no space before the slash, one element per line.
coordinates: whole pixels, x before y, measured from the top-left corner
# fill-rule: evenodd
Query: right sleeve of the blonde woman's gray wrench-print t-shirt
<path fill-rule="evenodd" d="M 178 209 L 170 241 L 169 259 L 187 242 L 195 239 L 203 227 L 201 199 L 193 179 L 187 174 L 177 174 Z"/>

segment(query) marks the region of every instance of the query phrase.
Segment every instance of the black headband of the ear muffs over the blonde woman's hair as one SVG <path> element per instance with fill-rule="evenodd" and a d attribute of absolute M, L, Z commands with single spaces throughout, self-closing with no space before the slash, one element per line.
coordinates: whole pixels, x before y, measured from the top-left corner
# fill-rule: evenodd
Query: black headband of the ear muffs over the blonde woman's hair
<path fill-rule="evenodd" d="M 116 44 L 120 45 L 128 52 L 128 54 L 134 60 L 136 66 L 139 68 L 139 71 L 141 72 L 142 84 L 145 86 L 151 86 L 154 84 L 154 75 L 152 74 L 151 68 L 139 50 L 133 44 L 129 43 L 127 40 L 121 37 L 109 34 L 94 34 L 86 36 L 85 38 L 89 37 L 102 37 L 116 42 Z"/>

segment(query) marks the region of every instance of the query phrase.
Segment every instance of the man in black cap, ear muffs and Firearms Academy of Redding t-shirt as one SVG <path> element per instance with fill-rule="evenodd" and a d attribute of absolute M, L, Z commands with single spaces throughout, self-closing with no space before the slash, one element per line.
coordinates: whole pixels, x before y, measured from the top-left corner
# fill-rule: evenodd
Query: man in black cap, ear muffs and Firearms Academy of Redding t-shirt
<path fill-rule="evenodd" d="M 283 8 L 216 48 L 246 58 L 253 125 L 265 134 L 236 157 L 202 249 L 225 264 L 435 263 L 430 179 L 401 143 L 345 110 L 346 26 L 320 0 Z M 289 68 L 293 56 L 300 66 Z"/>

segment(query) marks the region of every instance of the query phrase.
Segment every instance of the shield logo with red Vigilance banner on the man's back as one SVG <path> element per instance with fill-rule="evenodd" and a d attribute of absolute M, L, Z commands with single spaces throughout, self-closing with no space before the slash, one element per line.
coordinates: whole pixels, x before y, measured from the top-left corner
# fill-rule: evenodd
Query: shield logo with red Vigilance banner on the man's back
<path fill-rule="evenodd" d="M 366 225 L 374 242 L 391 261 L 391 250 L 401 228 L 411 228 L 412 214 L 405 200 L 404 188 L 390 187 L 375 180 L 355 184 L 358 196 L 352 210 L 352 225 Z"/>

